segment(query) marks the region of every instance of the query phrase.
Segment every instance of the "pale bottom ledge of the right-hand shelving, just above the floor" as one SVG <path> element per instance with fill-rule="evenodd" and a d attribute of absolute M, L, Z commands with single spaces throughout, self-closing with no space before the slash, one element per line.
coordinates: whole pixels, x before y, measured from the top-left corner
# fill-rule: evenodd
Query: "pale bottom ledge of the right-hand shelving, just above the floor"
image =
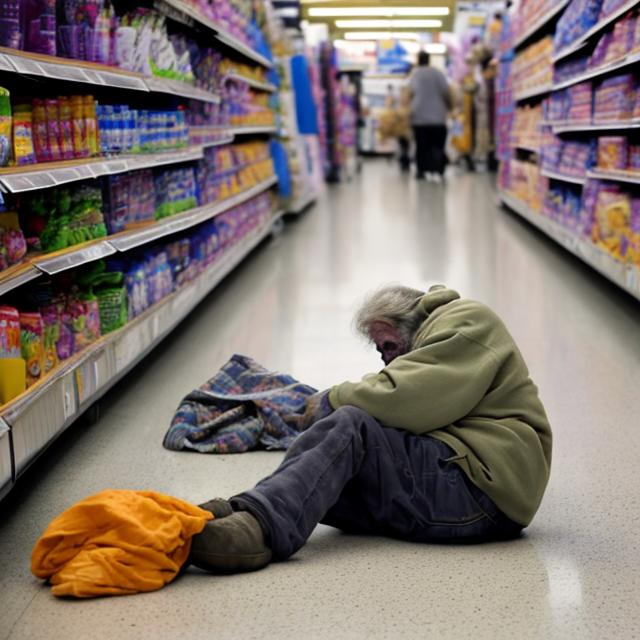
<path fill-rule="evenodd" d="M 593 269 L 640 300 L 640 270 L 633 265 L 626 265 L 614 260 L 608 253 L 600 250 L 593 243 L 583 240 L 575 233 L 534 211 L 529 205 L 505 191 L 500 191 L 502 202 L 517 214 L 525 218 L 535 227 L 565 249 L 586 262 Z"/>

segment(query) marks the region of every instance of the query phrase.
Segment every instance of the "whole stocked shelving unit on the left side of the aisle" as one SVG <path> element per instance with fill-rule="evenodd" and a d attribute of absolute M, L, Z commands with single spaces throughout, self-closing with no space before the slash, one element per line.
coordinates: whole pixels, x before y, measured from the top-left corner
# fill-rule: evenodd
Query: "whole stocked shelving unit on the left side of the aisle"
<path fill-rule="evenodd" d="M 265 3 L 169 4 L 0 0 L 0 497 L 274 224 Z"/>

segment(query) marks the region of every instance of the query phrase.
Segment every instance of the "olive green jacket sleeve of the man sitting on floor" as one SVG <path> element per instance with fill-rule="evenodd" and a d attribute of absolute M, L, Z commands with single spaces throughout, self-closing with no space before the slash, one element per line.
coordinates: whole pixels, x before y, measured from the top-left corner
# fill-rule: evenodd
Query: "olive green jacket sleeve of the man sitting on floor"
<path fill-rule="evenodd" d="M 498 372 L 494 353 L 462 333 L 435 335 L 380 373 L 331 389 L 336 409 L 353 405 L 382 424 L 422 434 L 469 415 Z"/>

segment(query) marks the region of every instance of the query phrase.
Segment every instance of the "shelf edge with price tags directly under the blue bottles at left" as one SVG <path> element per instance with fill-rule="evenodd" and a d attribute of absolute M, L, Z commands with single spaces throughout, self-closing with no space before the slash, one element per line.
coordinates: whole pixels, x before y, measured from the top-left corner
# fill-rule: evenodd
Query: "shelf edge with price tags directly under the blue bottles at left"
<path fill-rule="evenodd" d="M 200 160 L 203 157 L 204 145 L 160 153 L 141 153 L 114 158 L 69 160 L 11 167 L 0 169 L 0 186 L 11 193 L 23 193 L 125 171 Z"/>

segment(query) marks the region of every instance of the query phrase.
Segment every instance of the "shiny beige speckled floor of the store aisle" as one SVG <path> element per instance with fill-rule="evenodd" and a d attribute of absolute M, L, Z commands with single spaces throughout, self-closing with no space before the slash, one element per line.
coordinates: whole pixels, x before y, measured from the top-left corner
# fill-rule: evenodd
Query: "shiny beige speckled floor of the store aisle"
<path fill-rule="evenodd" d="M 640 306 L 500 211 L 486 176 L 446 187 L 365 164 L 287 225 L 75 425 L 0 506 L 0 639 L 640 636 Z M 416 545 L 319 527 L 290 561 L 190 570 L 156 593 L 57 600 L 29 571 L 48 522 L 104 488 L 194 502 L 238 492 L 280 453 L 174 453 L 180 398 L 232 353 L 319 388 L 379 368 L 351 327 L 387 282 L 445 282 L 512 330 L 555 432 L 551 483 L 517 541 Z"/>

